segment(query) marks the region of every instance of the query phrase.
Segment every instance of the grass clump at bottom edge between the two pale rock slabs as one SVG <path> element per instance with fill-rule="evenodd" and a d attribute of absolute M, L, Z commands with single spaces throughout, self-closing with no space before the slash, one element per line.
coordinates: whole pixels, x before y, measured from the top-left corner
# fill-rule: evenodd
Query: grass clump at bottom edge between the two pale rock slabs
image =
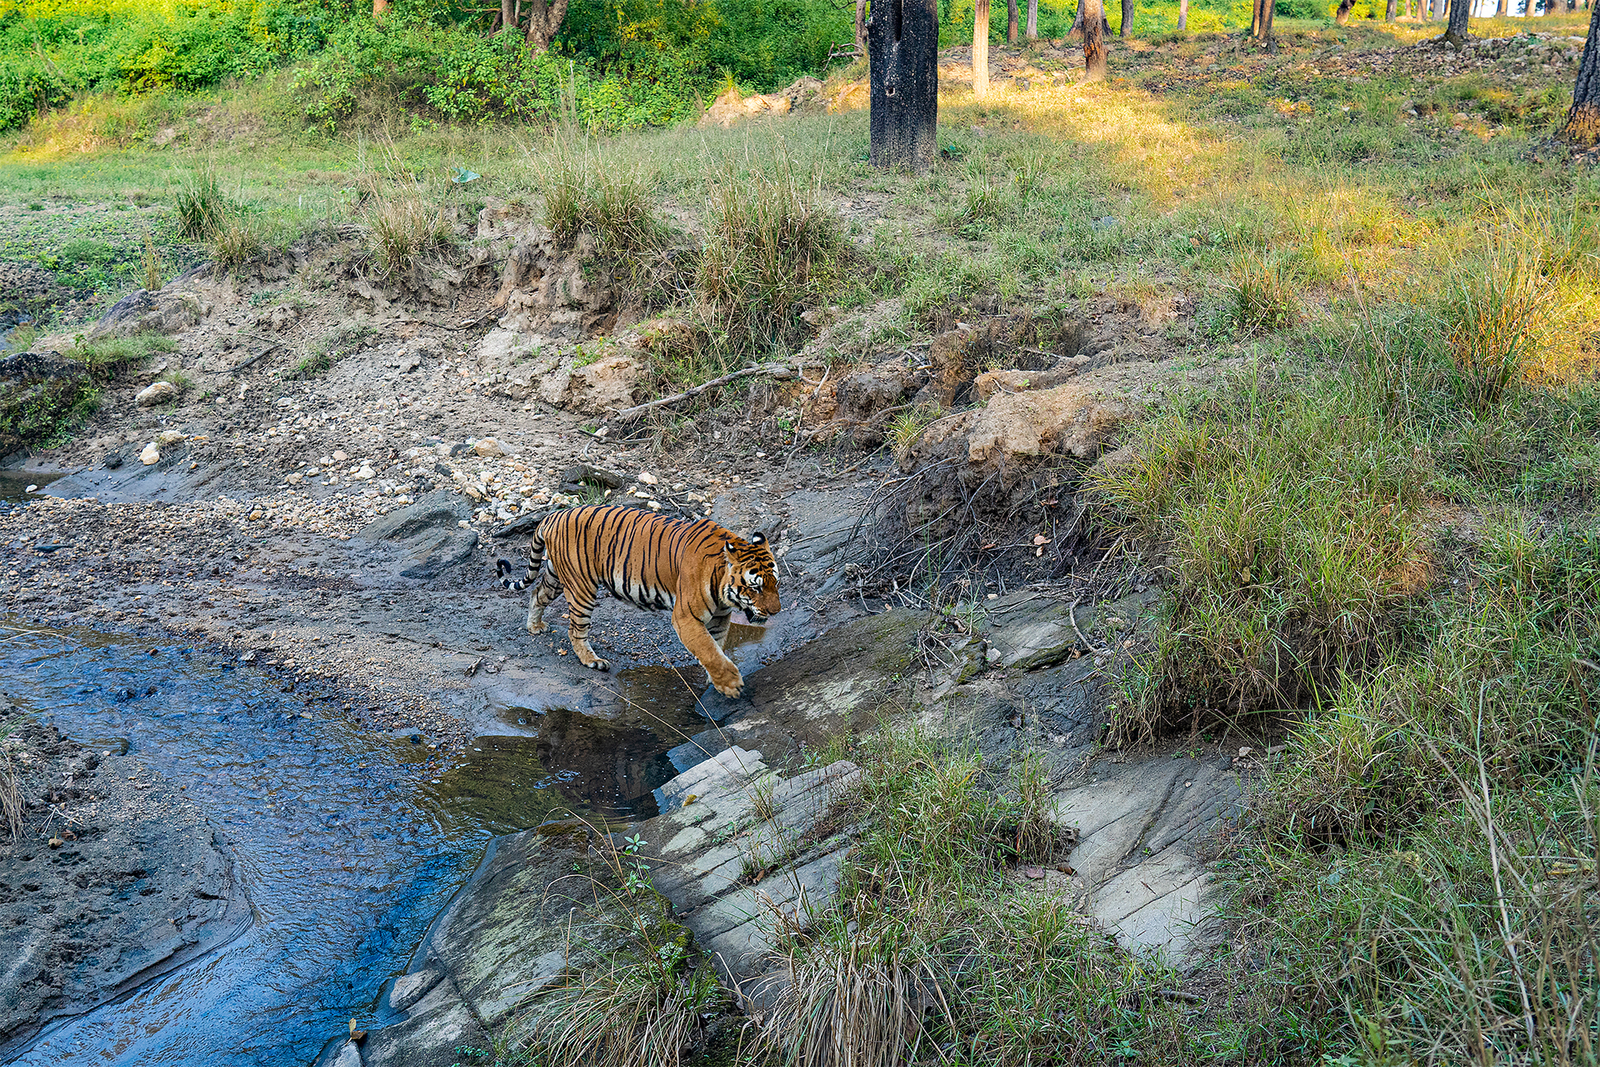
<path fill-rule="evenodd" d="M 885 728 L 861 765 L 858 803 L 874 824 L 838 896 L 808 928 L 779 931 L 792 981 L 762 1038 L 779 1062 L 1176 1062 L 1194 1051 L 1155 993 L 1173 974 L 1112 950 L 1069 896 L 1006 873 L 1062 843 L 1040 761 L 1022 760 L 1018 789 L 995 789 L 970 750 Z"/>

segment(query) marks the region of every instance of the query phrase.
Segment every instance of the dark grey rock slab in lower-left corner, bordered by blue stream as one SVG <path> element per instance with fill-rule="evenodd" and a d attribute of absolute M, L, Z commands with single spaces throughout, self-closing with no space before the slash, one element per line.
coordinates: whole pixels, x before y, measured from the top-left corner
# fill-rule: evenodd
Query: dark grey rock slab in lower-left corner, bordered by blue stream
<path fill-rule="evenodd" d="M 251 921 L 232 853 L 171 782 L 0 697 L 5 728 L 22 742 L 19 792 L 34 813 L 0 845 L 0 1059 Z M 45 825 L 48 806 L 58 819 Z M 51 848 L 66 827 L 72 838 Z"/>

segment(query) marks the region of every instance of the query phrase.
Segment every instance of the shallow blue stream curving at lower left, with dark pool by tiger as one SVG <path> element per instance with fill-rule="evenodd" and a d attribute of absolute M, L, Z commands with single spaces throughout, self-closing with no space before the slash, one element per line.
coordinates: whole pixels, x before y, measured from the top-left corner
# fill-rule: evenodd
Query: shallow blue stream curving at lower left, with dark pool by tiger
<path fill-rule="evenodd" d="M 446 766 L 229 656 L 90 630 L 0 621 L 0 678 L 64 733 L 126 744 L 187 784 L 229 840 L 256 910 L 219 952 L 48 1032 L 16 1061 L 29 1067 L 310 1062 L 347 1019 L 370 1017 L 491 833 L 587 797 L 626 813 L 672 773 L 653 753 L 675 741 L 574 744 L 574 720 L 562 721 L 558 745 L 480 737 Z M 614 747 L 642 741 L 651 755 Z M 589 765 L 552 765 L 563 749 L 590 753 Z M 598 781 L 605 768 L 618 777 Z"/>

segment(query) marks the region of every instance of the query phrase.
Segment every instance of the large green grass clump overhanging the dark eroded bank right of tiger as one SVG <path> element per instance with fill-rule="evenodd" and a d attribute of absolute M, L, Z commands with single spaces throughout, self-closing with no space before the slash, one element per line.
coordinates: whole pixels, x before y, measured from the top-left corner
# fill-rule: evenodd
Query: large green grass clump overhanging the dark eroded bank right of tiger
<path fill-rule="evenodd" d="M 1346 373 L 1237 384 L 1144 427 L 1094 482 L 1170 581 L 1114 729 L 1290 707 L 1371 661 L 1430 579 L 1410 445 Z"/>

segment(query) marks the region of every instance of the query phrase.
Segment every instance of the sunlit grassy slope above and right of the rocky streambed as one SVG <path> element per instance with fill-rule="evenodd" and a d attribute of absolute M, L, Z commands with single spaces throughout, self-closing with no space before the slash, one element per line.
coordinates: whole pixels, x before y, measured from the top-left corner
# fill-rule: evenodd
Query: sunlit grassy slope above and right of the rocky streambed
<path fill-rule="evenodd" d="M 1582 32 L 1474 24 L 1525 27 Z M 1186 1008 L 1149 995 L 1176 979 L 1062 917 L 1008 912 L 992 849 L 930 867 L 885 827 L 874 862 L 930 929 L 1038 960 L 966 987 L 946 1021 L 958 1059 L 1595 1062 L 1600 181 L 1530 154 L 1570 67 L 1355 75 L 1352 50 L 1437 29 L 1280 30 L 1272 58 L 1203 35 L 1114 43 L 1106 85 L 1051 85 L 1059 61 L 1038 56 L 1030 91 L 947 86 L 950 158 L 922 179 L 864 165 L 861 112 L 632 134 L 587 166 L 642 176 L 707 232 L 718 187 L 798 176 L 866 250 L 832 298 L 902 298 L 842 333 L 843 355 L 925 333 L 934 309 L 1186 293 L 1205 325 L 1186 358 L 1254 357 L 1246 381 L 1160 413 L 1138 462 L 1096 485 L 1170 590 L 1122 726 L 1309 709 L 1224 848 L 1237 936 Z M 160 150 L 96 149 L 93 115 L 38 123 L 6 146 L 0 198 L 165 202 L 208 166 L 270 237 L 352 218 L 355 190 L 389 176 L 461 197 L 445 168 L 464 165 L 485 176 L 472 197 L 538 202 L 570 166 L 528 130 L 310 138 L 274 118 L 280 91 L 176 104 L 211 120 Z M 34 240 L 24 253 L 50 248 Z M 1000 817 L 962 752 L 883 744 L 883 803 L 938 808 L 974 841 Z M 862 929 L 848 918 L 826 928 L 835 947 Z M 912 961 L 933 945 L 867 929 Z M 1059 1025 L 1008 1032 L 1022 1016 Z"/>

